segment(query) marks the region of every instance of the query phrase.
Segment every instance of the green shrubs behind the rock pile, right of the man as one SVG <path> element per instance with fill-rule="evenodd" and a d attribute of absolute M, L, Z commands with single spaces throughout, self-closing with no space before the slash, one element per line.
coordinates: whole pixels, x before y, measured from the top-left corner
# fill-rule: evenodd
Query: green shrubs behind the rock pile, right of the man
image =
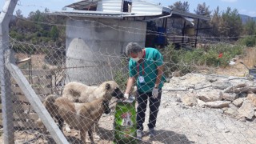
<path fill-rule="evenodd" d="M 222 53 L 222 58 L 218 55 Z M 165 74 L 174 70 L 182 74 L 197 70 L 198 66 L 228 66 L 230 59 L 243 53 L 242 46 L 231 46 L 229 44 L 218 44 L 209 46 L 209 49 L 175 50 L 174 46 L 166 46 L 162 50 L 166 65 Z"/>

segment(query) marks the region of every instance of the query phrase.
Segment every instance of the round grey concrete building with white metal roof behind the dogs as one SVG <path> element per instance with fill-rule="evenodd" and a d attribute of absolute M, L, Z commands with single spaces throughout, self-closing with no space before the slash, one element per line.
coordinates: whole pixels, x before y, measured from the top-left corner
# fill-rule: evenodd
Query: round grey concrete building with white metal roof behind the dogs
<path fill-rule="evenodd" d="M 173 14 L 170 8 L 142 0 L 83 0 L 66 7 L 74 10 L 51 13 L 68 17 L 66 82 L 85 84 L 112 79 L 120 63 L 116 56 L 125 52 L 127 43 L 145 46 L 147 22 Z"/>

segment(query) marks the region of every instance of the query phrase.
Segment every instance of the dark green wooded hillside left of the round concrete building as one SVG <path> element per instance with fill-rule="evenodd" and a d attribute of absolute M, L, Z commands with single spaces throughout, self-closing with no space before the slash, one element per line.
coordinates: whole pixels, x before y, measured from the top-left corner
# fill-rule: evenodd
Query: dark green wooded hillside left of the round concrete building
<path fill-rule="evenodd" d="M 20 42 L 62 46 L 65 43 L 65 18 L 46 14 L 49 10 L 30 12 L 27 18 L 17 10 L 10 22 L 10 37 Z"/>

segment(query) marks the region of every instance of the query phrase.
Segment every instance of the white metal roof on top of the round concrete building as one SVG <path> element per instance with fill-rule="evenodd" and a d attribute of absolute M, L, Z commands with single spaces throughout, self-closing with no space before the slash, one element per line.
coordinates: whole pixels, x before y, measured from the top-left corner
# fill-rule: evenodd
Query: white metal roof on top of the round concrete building
<path fill-rule="evenodd" d="M 124 0 L 130 2 L 131 0 Z M 72 7 L 75 10 L 65 10 L 54 12 L 58 15 L 70 16 L 84 16 L 82 17 L 94 17 L 94 18 L 124 18 L 124 17 L 143 17 L 143 16 L 162 16 L 172 13 L 171 17 L 187 17 L 187 18 L 199 18 L 202 20 L 210 20 L 210 18 L 187 13 L 181 10 L 171 10 L 169 7 L 159 6 L 145 0 L 132 0 L 131 13 L 122 11 L 122 0 L 82 0 L 80 2 L 74 2 L 66 7 Z M 91 6 L 94 6 L 94 10 L 89 10 Z M 96 9 L 97 8 L 97 9 Z M 88 9 L 88 10 L 87 10 Z"/>

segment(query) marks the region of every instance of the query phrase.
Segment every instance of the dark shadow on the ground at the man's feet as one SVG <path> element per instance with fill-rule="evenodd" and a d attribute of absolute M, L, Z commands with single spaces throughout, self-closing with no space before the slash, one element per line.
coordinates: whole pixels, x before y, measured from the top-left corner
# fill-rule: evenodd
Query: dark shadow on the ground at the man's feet
<path fill-rule="evenodd" d="M 154 138 L 150 138 L 149 135 L 146 133 L 145 136 L 142 138 L 142 142 L 139 143 L 190 144 L 194 142 L 186 138 L 185 134 L 178 134 L 170 130 L 156 130 L 156 135 L 154 136 Z"/>

